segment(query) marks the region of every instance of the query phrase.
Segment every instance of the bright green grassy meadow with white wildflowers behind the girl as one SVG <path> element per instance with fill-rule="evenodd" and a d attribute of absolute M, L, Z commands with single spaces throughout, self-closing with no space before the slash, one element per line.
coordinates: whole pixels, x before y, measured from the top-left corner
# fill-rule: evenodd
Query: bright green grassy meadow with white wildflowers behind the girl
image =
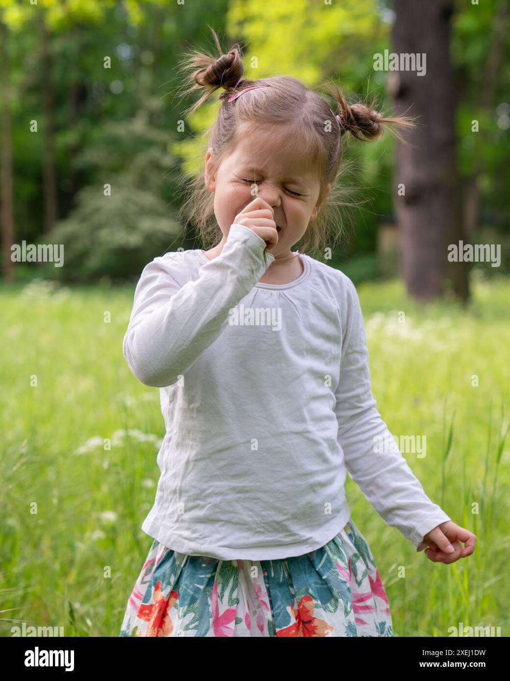
<path fill-rule="evenodd" d="M 404 456 L 428 496 L 478 537 L 473 556 L 431 563 L 347 480 L 395 635 L 445 636 L 459 622 L 499 626 L 505 635 L 510 283 L 474 281 L 465 310 L 412 304 L 400 281 L 358 291 L 378 409 L 393 434 L 426 435 L 425 458 Z M 133 292 L 37 283 L 0 289 L 0 635 L 23 621 L 63 626 L 65 635 L 119 634 L 151 544 L 140 525 L 153 503 L 164 435 L 159 391 L 138 383 L 122 355 Z"/>

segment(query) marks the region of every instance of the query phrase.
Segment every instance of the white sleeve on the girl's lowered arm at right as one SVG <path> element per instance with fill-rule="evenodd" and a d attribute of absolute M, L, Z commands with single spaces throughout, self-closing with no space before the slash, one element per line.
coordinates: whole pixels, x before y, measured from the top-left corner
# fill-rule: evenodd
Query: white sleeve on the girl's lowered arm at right
<path fill-rule="evenodd" d="M 376 409 L 359 297 L 353 282 L 348 277 L 345 281 L 346 325 L 335 391 L 338 443 L 348 474 L 379 516 L 421 551 L 424 535 L 451 518 L 425 494 Z M 377 442 L 383 443 L 383 452 Z"/>

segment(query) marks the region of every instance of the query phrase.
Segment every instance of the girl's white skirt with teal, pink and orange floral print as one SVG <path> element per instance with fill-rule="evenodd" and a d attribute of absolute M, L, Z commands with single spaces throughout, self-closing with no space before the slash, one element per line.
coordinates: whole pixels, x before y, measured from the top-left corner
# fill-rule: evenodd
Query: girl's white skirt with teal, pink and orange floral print
<path fill-rule="evenodd" d="M 393 636 L 388 598 L 353 522 L 278 560 L 180 554 L 154 539 L 120 636 Z"/>

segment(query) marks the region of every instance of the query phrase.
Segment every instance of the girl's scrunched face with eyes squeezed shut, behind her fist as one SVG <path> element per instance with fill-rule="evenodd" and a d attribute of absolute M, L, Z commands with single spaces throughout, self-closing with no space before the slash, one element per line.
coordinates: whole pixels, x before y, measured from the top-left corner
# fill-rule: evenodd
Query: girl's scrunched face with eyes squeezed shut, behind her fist
<path fill-rule="evenodd" d="M 272 206 L 280 227 L 278 244 L 271 249 L 275 259 L 287 257 L 290 248 L 316 219 L 320 185 L 316 174 L 305 166 L 301 150 L 290 145 L 275 150 L 267 133 L 241 135 L 233 153 L 211 174 L 213 149 L 205 157 L 205 182 L 214 192 L 215 217 L 224 243 L 236 215 L 258 195 Z"/>

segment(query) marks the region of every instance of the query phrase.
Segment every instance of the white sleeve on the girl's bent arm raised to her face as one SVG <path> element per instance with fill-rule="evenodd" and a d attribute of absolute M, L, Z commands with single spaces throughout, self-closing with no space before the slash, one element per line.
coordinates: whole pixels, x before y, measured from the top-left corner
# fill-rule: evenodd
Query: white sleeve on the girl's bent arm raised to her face
<path fill-rule="evenodd" d="M 252 229 L 234 223 L 223 250 L 180 285 L 176 257 L 156 257 L 142 271 L 123 339 L 123 355 L 145 385 L 172 385 L 228 326 L 228 313 L 256 285 L 274 256 Z"/>

